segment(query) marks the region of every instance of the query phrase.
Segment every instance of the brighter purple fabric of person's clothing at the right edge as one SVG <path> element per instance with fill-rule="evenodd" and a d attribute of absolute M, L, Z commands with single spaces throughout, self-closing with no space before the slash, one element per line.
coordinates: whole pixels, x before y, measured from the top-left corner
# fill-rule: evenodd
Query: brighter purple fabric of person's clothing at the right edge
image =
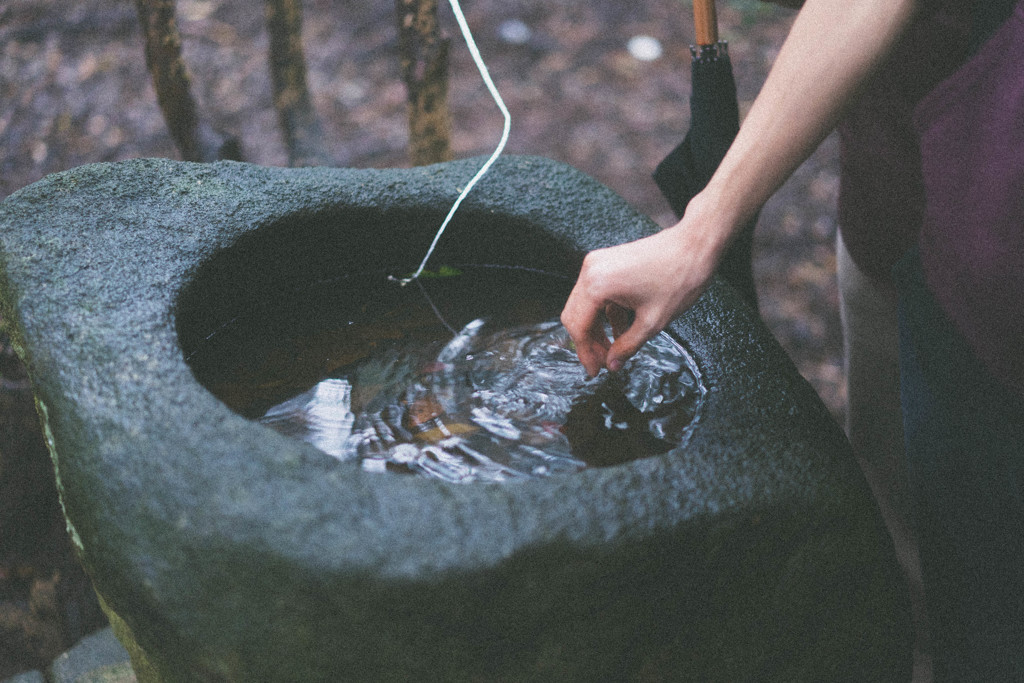
<path fill-rule="evenodd" d="M 925 280 L 992 376 L 1024 396 L 1024 0 L 914 123 Z"/>

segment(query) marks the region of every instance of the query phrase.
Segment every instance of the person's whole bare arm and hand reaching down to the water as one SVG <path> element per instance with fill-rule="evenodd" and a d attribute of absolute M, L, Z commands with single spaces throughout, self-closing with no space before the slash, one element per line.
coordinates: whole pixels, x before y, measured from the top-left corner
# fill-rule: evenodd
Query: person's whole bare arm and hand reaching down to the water
<path fill-rule="evenodd" d="M 588 373 L 617 370 L 697 299 L 739 226 L 833 129 L 915 5 L 806 0 L 736 139 L 682 220 L 584 260 L 562 323 Z M 604 316 L 614 342 L 604 334 Z"/>

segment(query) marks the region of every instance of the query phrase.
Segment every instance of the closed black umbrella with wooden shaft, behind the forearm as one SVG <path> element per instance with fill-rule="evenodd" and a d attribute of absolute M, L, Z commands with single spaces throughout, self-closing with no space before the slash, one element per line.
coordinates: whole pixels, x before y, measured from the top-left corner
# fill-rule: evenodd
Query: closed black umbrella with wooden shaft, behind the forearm
<path fill-rule="evenodd" d="M 654 181 L 677 216 L 703 189 L 739 131 L 739 104 L 725 41 L 718 39 L 714 0 L 693 0 L 696 45 L 690 93 L 690 129 L 654 170 Z M 751 266 L 755 217 L 743 226 L 719 265 L 719 272 L 757 308 Z"/>

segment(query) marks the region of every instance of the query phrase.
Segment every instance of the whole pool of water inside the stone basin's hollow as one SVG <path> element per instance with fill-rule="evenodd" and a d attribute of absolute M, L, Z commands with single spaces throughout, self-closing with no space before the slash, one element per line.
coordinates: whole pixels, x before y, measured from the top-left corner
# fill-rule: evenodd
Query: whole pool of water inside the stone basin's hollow
<path fill-rule="evenodd" d="M 243 280 L 259 279 L 272 242 L 243 245 L 260 254 Z M 232 260 L 246 259 L 213 259 L 178 302 L 196 378 L 366 470 L 463 482 L 617 465 L 680 445 L 702 396 L 668 334 L 622 373 L 587 378 L 558 323 L 565 274 L 445 262 L 403 287 L 387 269 L 296 267 L 250 286 L 229 282 Z"/>

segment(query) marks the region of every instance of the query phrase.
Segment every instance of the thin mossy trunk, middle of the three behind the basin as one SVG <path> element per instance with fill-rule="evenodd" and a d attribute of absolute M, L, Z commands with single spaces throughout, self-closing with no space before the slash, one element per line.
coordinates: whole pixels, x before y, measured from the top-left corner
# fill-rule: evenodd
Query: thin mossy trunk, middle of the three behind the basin
<path fill-rule="evenodd" d="M 264 9 L 270 39 L 273 106 L 285 135 L 288 163 L 290 166 L 330 166 L 331 159 L 324 152 L 324 129 L 306 86 L 301 0 L 266 0 Z"/>

